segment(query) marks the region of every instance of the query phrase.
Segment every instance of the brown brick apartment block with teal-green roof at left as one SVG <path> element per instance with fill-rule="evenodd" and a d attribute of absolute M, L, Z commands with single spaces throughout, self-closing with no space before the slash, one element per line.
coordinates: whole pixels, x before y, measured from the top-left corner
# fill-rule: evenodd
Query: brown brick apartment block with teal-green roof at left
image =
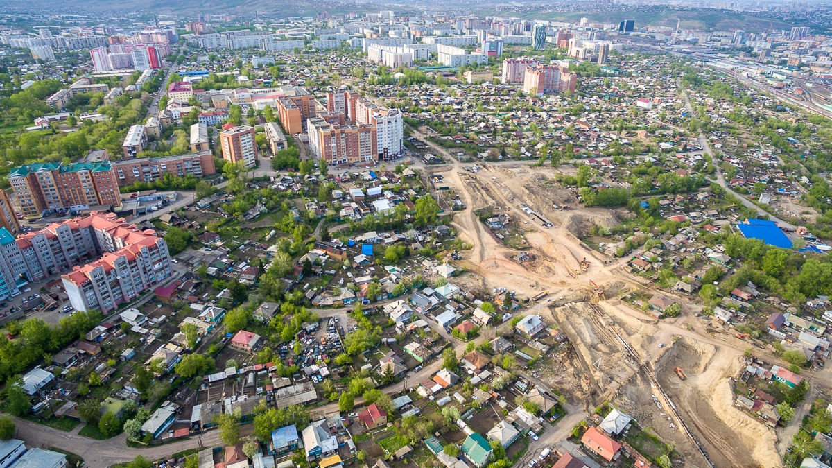
<path fill-rule="evenodd" d="M 38 162 L 15 167 L 8 180 L 26 216 L 121 205 L 116 174 L 109 162 Z"/>

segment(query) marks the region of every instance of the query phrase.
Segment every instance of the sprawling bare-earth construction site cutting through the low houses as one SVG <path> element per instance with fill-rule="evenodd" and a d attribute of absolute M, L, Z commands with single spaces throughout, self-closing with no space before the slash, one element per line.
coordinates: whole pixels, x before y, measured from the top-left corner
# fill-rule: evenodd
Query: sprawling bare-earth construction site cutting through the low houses
<path fill-rule="evenodd" d="M 548 296 L 527 313 L 552 323 L 571 346 L 551 372 L 536 376 L 587 414 L 605 401 L 622 408 L 672 444 L 684 466 L 780 466 L 775 431 L 733 406 L 729 379 L 740 371 L 747 344 L 706 330 L 685 297 L 661 291 L 684 305 L 681 316 L 661 320 L 620 300 L 656 291 L 623 270 L 626 259 L 593 251 L 576 236 L 592 225 L 614 225 L 619 212 L 574 209 L 574 193 L 549 168 L 482 164 L 467 171 L 457 164 L 431 171 L 465 206 L 453 227 L 472 246 L 462 252 L 463 266 L 476 273 L 468 286 Z M 523 223 L 532 261 L 514 260 L 518 251 L 479 220 L 475 211 L 486 207 Z"/>

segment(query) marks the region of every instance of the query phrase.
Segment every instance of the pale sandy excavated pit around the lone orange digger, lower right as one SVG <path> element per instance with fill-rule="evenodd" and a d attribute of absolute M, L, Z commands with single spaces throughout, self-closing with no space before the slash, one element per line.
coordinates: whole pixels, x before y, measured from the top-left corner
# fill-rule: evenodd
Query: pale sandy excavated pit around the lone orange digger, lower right
<path fill-rule="evenodd" d="M 656 362 L 656 378 L 716 466 L 780 466 L 774 431 L 733 405 L 728 377 L 739 371 L 737 357 L 681 338 Z M 687 380 L 676 376 L 676 367 Z"/>

